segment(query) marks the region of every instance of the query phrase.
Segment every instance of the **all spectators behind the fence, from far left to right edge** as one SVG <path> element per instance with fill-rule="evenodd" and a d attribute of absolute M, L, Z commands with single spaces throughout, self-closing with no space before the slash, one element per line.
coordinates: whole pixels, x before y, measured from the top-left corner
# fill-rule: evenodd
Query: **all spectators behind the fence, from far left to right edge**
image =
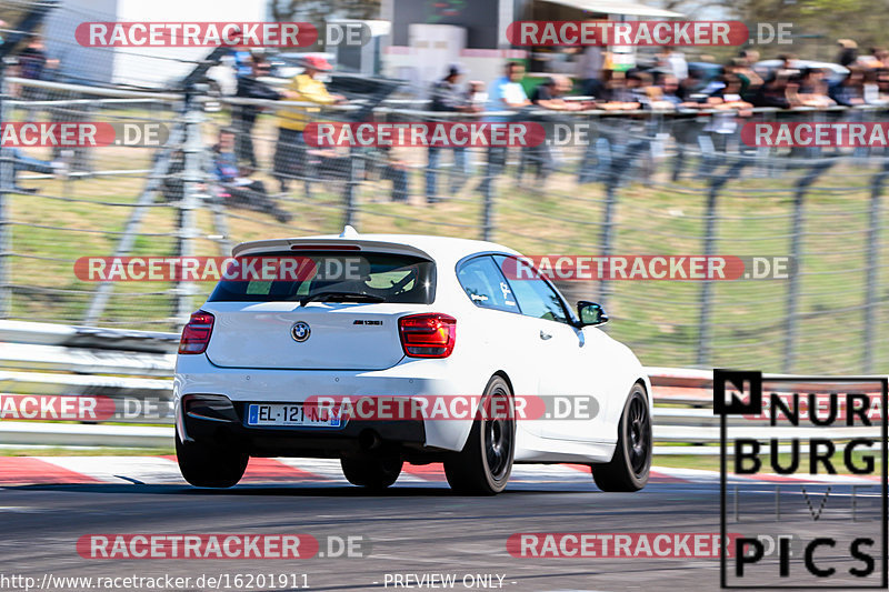
<path fill-rule="evenodd" d="M 486 121 L 506 121 L 519 116 L 546 121 L 546 113 L 560 117 L 566 112 L 591 109 L 609 112 L 707 111 L 709 117 L 702 132 L 715 140 L 717 149 L 725 149 L 725 139 L 737 133 L 739 124 L 751 116 L 753 108 L 889 106 L 889 50 L 870 48 L 861 51 L 849 39 L 839 40 L 836 64 L 799 60 L 790 54 L 763 62 L 758 51 L 749 49 L 719 64 L 707 58 L 689 61 L 681 51 L 662 48 L 655 56 L 640 59 L 640 66 L 621 70 L 610 63 L 603 48 L 572 51 L 579 53 L 573 80 L 552 74 L 533 84 L 528 83 L 521 62 L 507 62 L 502 76 L 489 84 L 466 80 L 468 72 L 463 67 L 450 64 L 442 78 L 429 88 L 424 110 L 431 112 L 431 119 L 440 117 L 448 121 L 480 117 Z M 344 103 L 346 98 L 328 92 L 322 79 L 332 68 L 323 58 L 309 54 L 300 66 L 302 72 L 289 83 L 273 84 L 268 78 L 272 72 L 266 56 L 238 52 L 231 120 L 228 126 L 223 124 L 224 130 L 208 160 L 212 161 L 211 165 L 206 171 L 210 182 L 214 183 L 216 194 L 223 195 L 228 204 L 263 211 L 282 222 L 289 220 L 289 215 L 276 203 L 266 184 L 256 179 L 258 173 L 269 171 L 281 195 L 289 194 L 297 182 L 309 197 L 312 184 L 324 178 L 341 179 L 349 157 L 353 155 L 344 157 L 334 150 L 307 146 L 303 138 L 307 124 L 320 117 L 323 107 Z M 58 60 L 50 59 L 42 41 L 34 37 L 19 52 L 11 73 L 47 79 L 57 68 Z M 22 87 L 19 94 L 26 100 L 41 98 L 36 87 Z M 270 110 L 261 103 L 239 102 L 240 99 L 300 101 L 317 107 L 282 106 Z M 254 128 L 258 117 L 266 110 L 273 118 L 277 138 L 268 153 L 257 154 Z M 27 109 L 27 116 L 32 119 L 33 110 Z M 423 195 L 428 203 L 437 203 L 443 195 L 457 194 L 476 172 L 477 163 L 466 148 L 432 147 L 424 152 Z M 506 148 L 487 150 L 483 174 L 475 189 L 488 190 L 491 181 L 503 172 L 507 154 Z M 16 172 L 66 173 L 68 170 L 56 152 L 51 160 L 40 161 L 17 150 L 13 160 Z M 373 157 L 366 160 L 369 164 L 363 167 L 362 174 L 376 171 L 379 181 L 391 181 L 393 200 L 408 200 L 411 193 L 409 170 L 418 165 L 416 157 L 409 160 L 399 151 L 383 148 L 374 150 Z M 519 180 L 526 171 L 538 180 L 546 180 L 555 170 L 556 160 L 548 144 L 523 149 L 519 159 Z M 440 179 L 446 169 L 449 174 L 442 193 Z M 180 189 L 177 188 L 176 192 Z"/>

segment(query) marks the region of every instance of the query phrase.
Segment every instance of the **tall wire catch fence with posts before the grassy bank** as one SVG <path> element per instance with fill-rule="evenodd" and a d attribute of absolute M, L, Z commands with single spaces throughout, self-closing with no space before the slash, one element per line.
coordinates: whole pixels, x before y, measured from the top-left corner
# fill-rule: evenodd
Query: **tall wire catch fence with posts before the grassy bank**
<path fill-rule="evenodd" d="M 786 372 L 886 372 L 889 252 L 882 149 L 746 147 L 747 121 L 886 121 L 883 108 L 552 112 L 511 116 L 588 127 L 583 142 L 441 150 L 428 203 L 424 148 L 314 149 L 294 182 L 274 171 L 279 112 L 321 121 L 486 120 L 426 110 L 397 93 L 347 106 L 149 92 L 6 76 L 0 119 L 160 122 L 163 146 L 0 149 L 0 311 L 10 320 L 176 330 L 212 288 L 194 282 L 84 282 L 81 257 L 217 255 L 243 240 L 339 233 L 431 233 L 493 240 L 527 254 L 789 257 L 795 273 L 737 281 L 562 281 L 605 303 L 607 330 L 647 364 Z M 28 92 L 37 89 L 41 92 Z M 251 138 L 261 201 L 234 201 L 213 175 L 231 111 L 261 108 Z M 719 126 L 715 126 L 719 123 Z M 236 121 L 237 124 L 237 121 Z M 557 142 L 558 143 L 558 142 Z M 52 163 L 16 170 L 20 155 Z M 463 165 L 463 162 L 467 164 Z M 30 190 L 36 190 L 31 192 Z"/>

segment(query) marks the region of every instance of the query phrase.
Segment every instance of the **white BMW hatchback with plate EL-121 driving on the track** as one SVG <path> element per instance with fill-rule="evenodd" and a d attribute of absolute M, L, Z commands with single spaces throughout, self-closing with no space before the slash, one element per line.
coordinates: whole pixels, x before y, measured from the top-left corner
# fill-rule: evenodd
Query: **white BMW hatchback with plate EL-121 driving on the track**
<path fill-rule="evenodd" d="M 350 482 L 372 489 L 403 462 L 443 462 L 451 488 L 473 494 L 502 491 L 513 463 L 588 464 L 606 491 L 647 483 L 642 365 L 596 327 L 601 307 L 575 309 L 545 278 L 518 279 L 516 251 L 347 228 L 232 254 L 294 258 L 308 271 L 223 280 L 183 329 L 176 446 L 189 483 L 231 486 L 250 456 L 339 458 Z M 339 412 L 349 398 L 453 397 L 483 404 L 455 417 Z M 329 413 L 323 398 L 337 402 Z M 515 412 L 522 398 L 546 413 Z M 557 398 L 592 404 L 553 413 Z"/>

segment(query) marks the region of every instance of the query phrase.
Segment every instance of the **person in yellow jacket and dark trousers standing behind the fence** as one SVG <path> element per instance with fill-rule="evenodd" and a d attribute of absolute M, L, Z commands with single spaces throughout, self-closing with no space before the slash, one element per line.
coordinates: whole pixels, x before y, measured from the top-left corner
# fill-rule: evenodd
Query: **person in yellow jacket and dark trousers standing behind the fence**
<path fill-rule="evenodd" d="M 339 94 L 330 94 L 324 83 L 318 79 L 319 72 L 329 72 L 333 68 L 320 56 L 308 56 L 302 59 L 303 72 L 293 78 L 288 87 L 288 98 L 300 102 L 319 106 L 336 104 L 346 101 Z M 301 178 L 306 193 L 310 193 L 307 177 L 306 140 L 302 137 L 306 126 L 312 117 L 321 111 L 313 107 L 291 107 L 278 113 L 278 144 L 274 149 L 274 178 L 284 192 L 292 179 Z"/>

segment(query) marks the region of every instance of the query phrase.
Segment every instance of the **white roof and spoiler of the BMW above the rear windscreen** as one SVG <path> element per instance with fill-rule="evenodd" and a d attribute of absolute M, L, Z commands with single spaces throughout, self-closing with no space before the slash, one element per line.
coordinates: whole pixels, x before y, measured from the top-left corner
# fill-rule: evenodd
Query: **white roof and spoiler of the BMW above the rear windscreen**
<path fill-rule="evenodd" d="M 368 249 L 383 249 L 390 252 L 404 252 L 426 255 L 439 262 L 457 262 L 460 259 L 479 252 L 501 252 L 519 254 L 517 251 L 489 241 L 436 237 L 430 234 L 359 234 L 352 229 L 342 234 L 320 234 L 314 237 L 296 237 L 242 242 L 232 249 L 234 257 L 246 253 L 289 250 L 299 244 L 357 244 Z"/>

